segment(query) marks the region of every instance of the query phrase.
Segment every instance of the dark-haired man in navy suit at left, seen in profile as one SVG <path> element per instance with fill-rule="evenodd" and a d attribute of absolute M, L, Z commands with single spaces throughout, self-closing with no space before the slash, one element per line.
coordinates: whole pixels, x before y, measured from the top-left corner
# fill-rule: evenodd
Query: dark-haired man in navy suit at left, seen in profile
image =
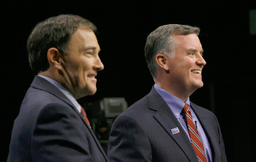
<path fill-rule="evenodd" d="M 96 92 L 104 68 L 95 31 L 76 15 L 35 26 L 27 48 L 38 75 L 14 121 L 7 161 L 108 161 L 76 101 Z"/>

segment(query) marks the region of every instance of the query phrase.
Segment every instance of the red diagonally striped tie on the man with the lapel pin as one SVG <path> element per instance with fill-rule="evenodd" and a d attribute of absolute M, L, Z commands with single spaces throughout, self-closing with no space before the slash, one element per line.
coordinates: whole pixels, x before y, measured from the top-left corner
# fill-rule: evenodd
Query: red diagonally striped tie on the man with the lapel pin
<path fill-rule="evenodd" d="M 198 161 L 206 162 L 207 160 L 204 152 L 203 143 L 194 125 L 194 122 L 192 120 L 192 114 L 190 112 L 190 107 L 187 103 L 185 103 L 185 106 L 183 108 L 183 113 L 186 116 L 187 128 L 188 128 L 189 136 L 191 139 L 191 144 L 197 154 Z"/>

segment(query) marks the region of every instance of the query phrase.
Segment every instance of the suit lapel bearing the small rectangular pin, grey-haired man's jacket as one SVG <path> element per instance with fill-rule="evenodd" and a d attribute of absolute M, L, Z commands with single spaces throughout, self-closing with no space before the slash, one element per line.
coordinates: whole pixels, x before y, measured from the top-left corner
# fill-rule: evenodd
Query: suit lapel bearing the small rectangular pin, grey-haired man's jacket
<path fill-rule="evenodd" d="M 197 159 L 197 155 L 191 145 L 187 135 L 180 125 L 179 121 L 170 110 L 167 103 L 163 98 L 156 92 L 154 87 L 152 88 L 150 94 L 148 94 L 148 102 L 150 109 L 157 111 L 154 118 L 160 123 L 160 125 L 165 129 L 169 136 L 180 146 L 184 154 L 188 157 L 190 161 Z M 171 129 L 179 128 L 179 133 L 173 134 Z"/>

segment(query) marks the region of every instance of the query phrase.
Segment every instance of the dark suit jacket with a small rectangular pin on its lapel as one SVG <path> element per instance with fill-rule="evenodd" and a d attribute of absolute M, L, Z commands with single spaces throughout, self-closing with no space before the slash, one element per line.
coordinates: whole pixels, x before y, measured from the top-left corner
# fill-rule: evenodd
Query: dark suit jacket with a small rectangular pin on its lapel
<path fill-rule="evenodd" d="M 190 102 L 208 138 L 212 160 L 227 161 L 216 116 Z M 180 132 L 173 134 L 171 129 Z M 184 129 L 153 87 L 113 123 L 108 157 L 110 161 L 198 161 Z"/>

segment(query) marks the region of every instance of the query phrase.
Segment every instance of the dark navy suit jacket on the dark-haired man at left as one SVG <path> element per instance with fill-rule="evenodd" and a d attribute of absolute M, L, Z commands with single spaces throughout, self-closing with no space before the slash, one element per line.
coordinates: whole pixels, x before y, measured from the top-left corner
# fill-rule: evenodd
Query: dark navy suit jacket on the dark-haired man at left
<path fill-rule="evenodd" d="M 108 161 L 70 100 L 35 76 L 14 121 L 7 161 Z"/>

